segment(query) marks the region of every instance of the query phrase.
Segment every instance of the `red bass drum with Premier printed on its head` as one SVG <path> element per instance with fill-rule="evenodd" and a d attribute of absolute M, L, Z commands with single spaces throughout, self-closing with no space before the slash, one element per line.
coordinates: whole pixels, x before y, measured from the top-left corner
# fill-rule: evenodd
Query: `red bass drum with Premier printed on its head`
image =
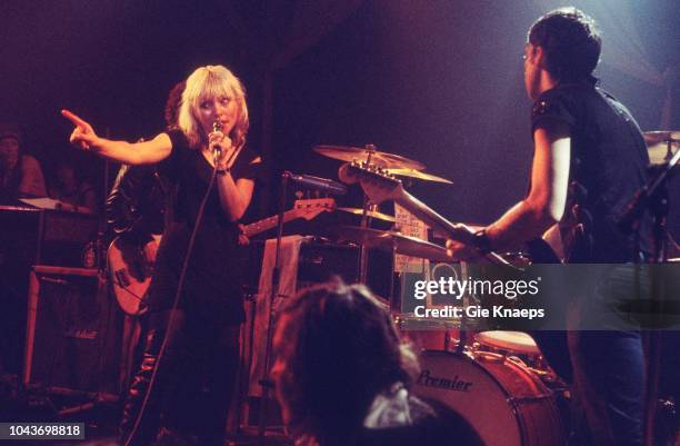
<path fill-rule="evenodd" d="M 527 367 L 489 351 L 423 351 L 416 395 L 441 402 L 486 446 L 564 446 L 552 393 Z"/>

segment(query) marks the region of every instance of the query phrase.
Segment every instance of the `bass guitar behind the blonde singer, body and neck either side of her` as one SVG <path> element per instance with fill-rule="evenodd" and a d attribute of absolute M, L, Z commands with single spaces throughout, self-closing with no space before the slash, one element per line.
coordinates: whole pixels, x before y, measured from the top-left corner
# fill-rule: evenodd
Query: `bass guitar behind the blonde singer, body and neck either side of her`
<path fill-rule="evenodd" d="M 321 212 L 336 208 L 332 198 L 297 200 L 292 209 L 283 212 L 283 222 L 298 218 L 311 220 Z M 278 215 L 241 227 L 242 236 L 253 237 L 278 224 Z M 116 237 L 107 251 L 109 275 L 113 295 L 120 308 L 129 316 L 139 316 L 147 310 L 147 290 L 151 284 L 156 251 L 161 236 L 143 244 Z M 240 237 L 241 238 L 241 237 Z"/>

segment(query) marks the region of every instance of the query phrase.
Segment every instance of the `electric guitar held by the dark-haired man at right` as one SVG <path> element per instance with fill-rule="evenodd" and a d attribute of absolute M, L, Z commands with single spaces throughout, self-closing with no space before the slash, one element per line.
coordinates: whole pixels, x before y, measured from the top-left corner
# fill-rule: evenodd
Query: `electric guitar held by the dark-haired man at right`
<path fill-rule="evenodd" d="M 393 200 L 423 220 L 434 231 L 443 234 L 450 239 L 466 241 L 467 236 L 474 234 L 471 227 L 464 224 L 456 225 L 437 214 L 432 208 L 406 191 L 400 179 L 374 165 L 352 161 L 340 167 L 338 175 L 343 182 L 361 185 L 367 197 L 373 204 L 379 205 L 382 201 Z M 462 232 L 466 232 L 466 237 Z M 560 262 L 551 247 L 544 241 L 532 241 L 527 248 L 534 262 Z M 484 257 L 494 265 L 517 269 L 514 265 L 498 252 L 491 251 Z"/>

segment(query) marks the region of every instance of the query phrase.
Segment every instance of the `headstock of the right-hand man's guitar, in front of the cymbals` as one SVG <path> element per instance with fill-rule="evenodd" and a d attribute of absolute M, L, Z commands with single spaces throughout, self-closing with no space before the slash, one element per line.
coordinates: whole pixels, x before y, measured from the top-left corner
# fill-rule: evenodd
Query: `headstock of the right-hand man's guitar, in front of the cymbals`
<path fill-rule="evenodd" d="M 394 200 L 404 192 L 400 179 L 387 169 L 364 161 L 352 161 L 341 166 L 338 177 L 348 185 L 359 182 L 368 198 L 376 205 Z"/>

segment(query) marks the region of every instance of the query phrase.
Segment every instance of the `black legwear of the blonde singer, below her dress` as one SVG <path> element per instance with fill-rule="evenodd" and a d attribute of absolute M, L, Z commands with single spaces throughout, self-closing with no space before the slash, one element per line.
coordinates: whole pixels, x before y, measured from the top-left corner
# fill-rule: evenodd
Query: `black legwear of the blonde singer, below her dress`
<path fill-rule="evenodd" d="M 123 409 L 121 437 L 130 435 L 158 367 L 131 445 L 148 445 L 162 427 L 201 446 L 221 446 L 239 365 L 238 326 L 183 310 L 176 313 L 171 326 L 169 320 L 170 311 L 150 315 L 141 364 Z M 166 336 L 166 350 L 159 359 Z"/>

